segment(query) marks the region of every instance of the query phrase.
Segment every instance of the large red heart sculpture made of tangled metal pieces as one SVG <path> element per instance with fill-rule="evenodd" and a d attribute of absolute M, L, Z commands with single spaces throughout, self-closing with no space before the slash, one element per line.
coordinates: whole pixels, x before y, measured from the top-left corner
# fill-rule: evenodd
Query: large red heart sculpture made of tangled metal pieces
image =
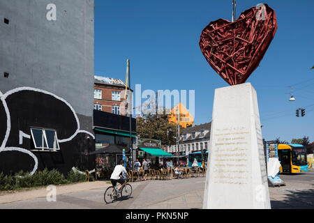
<path fill-rule="evenodd" d="M 235 22 L 219 19 L 209 23 L 202 31 L 200 48 L 228 84 L 243 84 L 262 61 L 276 30 L 274 10 L 259 4 Z"/>

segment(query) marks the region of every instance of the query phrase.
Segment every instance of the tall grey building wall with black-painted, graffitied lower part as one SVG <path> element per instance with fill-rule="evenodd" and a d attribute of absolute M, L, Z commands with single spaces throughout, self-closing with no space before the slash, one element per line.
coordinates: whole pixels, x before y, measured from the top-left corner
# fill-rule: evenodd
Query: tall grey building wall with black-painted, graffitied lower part
<path fill-rule="evenodd" d="M 0 0 L 0 171 L 94 169 L 94 0 Z"/>

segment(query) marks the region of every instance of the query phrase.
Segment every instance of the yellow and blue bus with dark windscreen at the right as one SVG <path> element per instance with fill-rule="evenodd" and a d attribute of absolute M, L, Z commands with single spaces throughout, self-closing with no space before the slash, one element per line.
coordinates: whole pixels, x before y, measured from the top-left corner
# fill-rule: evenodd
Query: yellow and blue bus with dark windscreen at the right
<path fill-rule="evenodd" d="M 278 144 L 280 172 L 296 174 L 308 171 L 306 148 L 300 144 Z"/>

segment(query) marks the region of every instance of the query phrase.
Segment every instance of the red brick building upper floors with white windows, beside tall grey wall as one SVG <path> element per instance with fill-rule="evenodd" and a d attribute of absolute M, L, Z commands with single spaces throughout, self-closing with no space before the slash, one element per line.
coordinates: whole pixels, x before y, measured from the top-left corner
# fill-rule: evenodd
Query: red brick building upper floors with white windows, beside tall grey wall
<path fill-rule="evenodd" d="M 126 93 L 126 84 L 120 79 L 95 76 L 94 109 L 128 116 L 128 106 L 132 105 L 132 97 L 129 94 L 129 90 Z"/>

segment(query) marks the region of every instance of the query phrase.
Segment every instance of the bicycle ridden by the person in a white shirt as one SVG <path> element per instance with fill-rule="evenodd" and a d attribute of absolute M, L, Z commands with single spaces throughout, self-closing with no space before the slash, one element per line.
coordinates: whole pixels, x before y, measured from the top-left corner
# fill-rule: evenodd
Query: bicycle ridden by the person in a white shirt
<path fill-rule="evenodd" d="M 128 179 L 127 179 L 128 182 Z M 124 199 L 129 199 L 132 194 L 132 186 L 129 183 L 126 183 L 123 187 L 121 187 L 120 190 L 118 190 L 118 187 L 120 186 L 116 185 L 115 187 L 108 187 L 105 191 L 105 194 L 103 194 L 103 199 L 105 200 L 105 203 L 113 203 L 114 201 L 117 201 L 119 197 Z"/>

